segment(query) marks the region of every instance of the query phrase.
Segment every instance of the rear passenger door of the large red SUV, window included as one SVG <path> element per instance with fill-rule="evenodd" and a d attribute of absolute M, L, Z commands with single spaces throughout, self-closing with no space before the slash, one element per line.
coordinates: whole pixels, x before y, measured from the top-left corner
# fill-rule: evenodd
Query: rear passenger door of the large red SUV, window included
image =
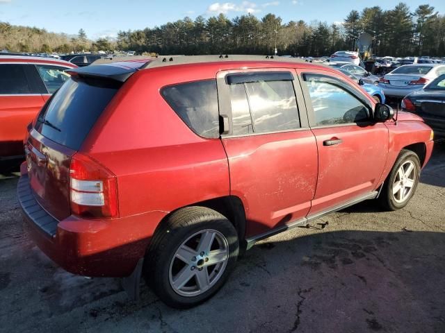
<path fill-rule="evenodd" d="M 294 74 L 293 69 L 218 73 L 230 193 L 243 201 L 248 237 L 299 223 L 315 193 L 316 141 Z"/>

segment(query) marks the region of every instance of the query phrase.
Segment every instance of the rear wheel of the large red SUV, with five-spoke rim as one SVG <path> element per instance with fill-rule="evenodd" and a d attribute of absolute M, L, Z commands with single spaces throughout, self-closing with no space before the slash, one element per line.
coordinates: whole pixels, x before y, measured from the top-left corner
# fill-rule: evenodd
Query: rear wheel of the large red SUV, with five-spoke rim
<path fill-rule="evenodd" d="M 165 304 L 194 307 L 223 287 L 238 250 L 238 233 L 225 216 L 207 207 L 184 207 L 156 230 L 144 275 Z"/>

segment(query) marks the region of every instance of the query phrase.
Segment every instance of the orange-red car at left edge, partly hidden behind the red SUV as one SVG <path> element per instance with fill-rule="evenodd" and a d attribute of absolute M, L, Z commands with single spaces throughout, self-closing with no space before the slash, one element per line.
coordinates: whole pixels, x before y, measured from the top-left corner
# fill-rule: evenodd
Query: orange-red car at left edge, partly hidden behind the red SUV
<path fill-rule="evenodd" d="M 24 157 L 26 126 L 69 78 L 70 62 L 31 56 L 0 57 L 0 167 Z"/>

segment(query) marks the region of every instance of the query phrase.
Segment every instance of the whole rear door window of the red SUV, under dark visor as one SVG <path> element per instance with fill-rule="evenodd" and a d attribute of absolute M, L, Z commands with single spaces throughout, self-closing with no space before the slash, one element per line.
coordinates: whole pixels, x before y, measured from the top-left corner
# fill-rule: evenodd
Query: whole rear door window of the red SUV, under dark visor
<path fill-rule="evenodd" d="M 300 128 L 292 76 L 277 75 L 282 74 L 248 74 L 230 83 L 233 134 Z"/>

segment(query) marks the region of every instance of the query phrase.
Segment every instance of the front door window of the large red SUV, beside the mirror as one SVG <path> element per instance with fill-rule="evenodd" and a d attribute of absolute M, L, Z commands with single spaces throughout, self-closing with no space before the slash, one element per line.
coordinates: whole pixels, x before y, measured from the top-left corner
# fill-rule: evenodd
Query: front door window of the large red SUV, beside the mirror
<path fill-rule="evenodd" d="M 316 126 L 369 120 L 369 109 L 348 92 L 346 83 L 319 74 L 303 74 L 314 109 Z"/>

